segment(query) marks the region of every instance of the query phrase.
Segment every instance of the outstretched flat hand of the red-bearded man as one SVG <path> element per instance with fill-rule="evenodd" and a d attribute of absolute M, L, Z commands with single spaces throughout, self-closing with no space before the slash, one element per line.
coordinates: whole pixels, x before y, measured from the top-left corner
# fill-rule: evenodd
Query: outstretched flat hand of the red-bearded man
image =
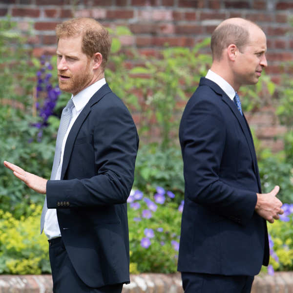
<path fill-rule="evenodd" d="M 14 164 L 4 161 L 4 166 L 13 171 L 13 174 L 23 181 L 29 188 L 39 192 L 46 193 L 47 179 L 39 177 L 35 174 L 29 173 Z"/>

